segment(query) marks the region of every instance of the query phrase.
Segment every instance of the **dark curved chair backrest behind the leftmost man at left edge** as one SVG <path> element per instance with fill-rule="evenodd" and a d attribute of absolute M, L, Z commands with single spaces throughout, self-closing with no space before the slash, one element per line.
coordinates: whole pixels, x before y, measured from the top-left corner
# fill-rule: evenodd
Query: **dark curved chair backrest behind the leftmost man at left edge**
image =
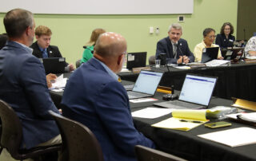
<path fill-rule="evenodd" d="M 1 147 L 5 147 L 14 158 L 18 157 L 18 150 L 22 142 L 22 124 L 6 102 L 0 100 L 0 118 L 2 120 Z"/>

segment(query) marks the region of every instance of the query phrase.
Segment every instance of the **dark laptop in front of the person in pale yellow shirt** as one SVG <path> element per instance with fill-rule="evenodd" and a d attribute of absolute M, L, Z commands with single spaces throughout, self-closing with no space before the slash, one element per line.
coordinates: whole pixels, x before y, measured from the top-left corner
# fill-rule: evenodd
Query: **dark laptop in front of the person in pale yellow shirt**
<path fill-rule="evenodd" d="M 218 49 L 219 47 L 212 47 L 212 48 L 204 48 L 202 49 L 202 63 L 206 63 L 208 61 L 212 61 L 218 58 Z"/>

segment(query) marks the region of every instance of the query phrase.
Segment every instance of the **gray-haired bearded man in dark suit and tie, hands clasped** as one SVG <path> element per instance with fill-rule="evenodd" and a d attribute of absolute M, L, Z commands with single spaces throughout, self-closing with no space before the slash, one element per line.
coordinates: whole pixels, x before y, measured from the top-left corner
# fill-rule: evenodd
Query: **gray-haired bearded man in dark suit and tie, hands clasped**
<path fill-rule="evenodd" d="M 161 53 L 166 54 L 166 63 L 187 64 L 194 62 L 194 54 L 190 52 L 187 41 L 182 39 L 182 26 L 174 23 L 170 26 L 168 37 L 158 41 L 156 59 Z"/>

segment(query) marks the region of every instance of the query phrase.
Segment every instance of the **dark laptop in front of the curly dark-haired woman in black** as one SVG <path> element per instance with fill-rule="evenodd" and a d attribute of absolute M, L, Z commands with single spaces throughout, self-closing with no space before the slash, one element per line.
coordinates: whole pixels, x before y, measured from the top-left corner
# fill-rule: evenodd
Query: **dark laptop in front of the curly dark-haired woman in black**
<path fill-rule="evenodd" d="M 222 52 L 222 57 L 224 57 L 225 60 L 231 61 L 234 59 L 240 60 L 242 58 L 244 48 L 232 48 L 232 49 L 226 49 L 226 51 Z"/>

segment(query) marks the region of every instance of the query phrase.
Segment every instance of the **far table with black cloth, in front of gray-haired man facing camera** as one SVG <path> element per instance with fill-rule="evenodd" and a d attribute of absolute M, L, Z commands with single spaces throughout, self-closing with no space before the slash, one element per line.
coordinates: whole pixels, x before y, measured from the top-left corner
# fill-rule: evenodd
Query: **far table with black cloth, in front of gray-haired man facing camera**
<path fill-rule="evenodd" d="M 194 69 L 177 69 L 170 66 L 161 68 L 151 67 L 151 71 L 164 73 L 159 85 L 181 90 L 183 81 L 187 73 L 198 74 L 202 76 L 218 77 L 214 89 L 214 96 L 224 99 L 236 97 L 245 100 L 256 101 L 256 64 L 246 64 L 240 61 L 238 64 L 230 66 L 200 67 Z M 118 76 L 125 81 L 135 82 L 138 73 L 124 72 L 118 73 Z"/>

